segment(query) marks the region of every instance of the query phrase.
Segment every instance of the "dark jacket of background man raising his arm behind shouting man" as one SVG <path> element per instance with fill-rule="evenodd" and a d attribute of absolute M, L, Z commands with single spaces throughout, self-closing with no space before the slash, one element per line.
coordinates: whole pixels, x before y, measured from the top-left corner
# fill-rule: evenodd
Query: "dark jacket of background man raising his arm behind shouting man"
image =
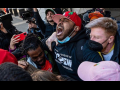
<path fill-rule="evenodd" d="M 48 22 L 43 21 L 38 12 L 34 12 L 34 17 L 36 19 L 38 27 L 42 30 L 43 34 L 45 35 L 45 38 L 51 36 L 52 33 L 56 31 L 56 23 L 52 26 Z"/>

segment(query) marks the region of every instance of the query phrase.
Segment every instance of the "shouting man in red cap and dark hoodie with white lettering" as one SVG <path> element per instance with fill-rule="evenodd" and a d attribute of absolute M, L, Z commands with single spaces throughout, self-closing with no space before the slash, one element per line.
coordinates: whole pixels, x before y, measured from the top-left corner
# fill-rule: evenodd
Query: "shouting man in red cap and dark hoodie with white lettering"
<path fill-rule="evenodd" d="M 67 11 L 63 15 L 55 14 L 52 18 L 57 23 L 56 32 L 46 41 L 46 44 L 49 47 L 48 43 L 51 42 L 51 39 L 58 41 L 58 45 L 52 47 L 52 52 L 60 74 L 79 81 L 77 68 L 83 61 L 82 50 L 87 40 L 82 20 L 71 11 Z"/>

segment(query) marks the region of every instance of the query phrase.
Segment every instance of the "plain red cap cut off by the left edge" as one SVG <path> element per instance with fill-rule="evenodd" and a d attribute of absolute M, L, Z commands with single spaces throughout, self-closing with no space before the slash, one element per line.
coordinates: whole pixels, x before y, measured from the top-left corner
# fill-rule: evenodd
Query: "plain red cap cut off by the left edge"
<path fill-rule="evenodd" d="M 12 62 L 18 65 L 17 58 L 7 50 L 0 49 L 0 64 L 5 62 Z"/>

